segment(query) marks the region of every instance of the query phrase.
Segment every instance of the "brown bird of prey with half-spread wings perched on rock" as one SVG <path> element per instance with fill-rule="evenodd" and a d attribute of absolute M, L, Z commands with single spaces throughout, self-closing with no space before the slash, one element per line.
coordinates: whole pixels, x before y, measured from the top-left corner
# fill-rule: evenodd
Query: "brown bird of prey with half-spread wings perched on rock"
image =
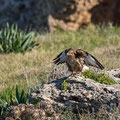
<path fill-rule="evenodd" d="M 68 71 L 72 73 L 82 72 L 84 65 L 93 66 L 101 70 L 104 69 L 103 65 L 93 55 L 82 49 L 66 49 L 53 59 L 53 61 L 57 65 L 66 63 Z"/>

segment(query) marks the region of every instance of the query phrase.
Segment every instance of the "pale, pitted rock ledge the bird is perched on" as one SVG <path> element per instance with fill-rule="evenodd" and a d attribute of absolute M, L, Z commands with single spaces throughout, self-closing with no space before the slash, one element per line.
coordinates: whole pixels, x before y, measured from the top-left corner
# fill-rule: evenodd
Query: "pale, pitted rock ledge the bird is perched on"
<path fill-rule="evenodd" d="M 66 80 L 68 89 L 61 90 L 61 83 Z M 32 99 L 49 101 L 52 105 L 67 108 L 78 105 L 82 109 L 113 108 L 120 103 L 120 84 L 105 85 L 84 77 L 61 78 L 44 84 Z"/>

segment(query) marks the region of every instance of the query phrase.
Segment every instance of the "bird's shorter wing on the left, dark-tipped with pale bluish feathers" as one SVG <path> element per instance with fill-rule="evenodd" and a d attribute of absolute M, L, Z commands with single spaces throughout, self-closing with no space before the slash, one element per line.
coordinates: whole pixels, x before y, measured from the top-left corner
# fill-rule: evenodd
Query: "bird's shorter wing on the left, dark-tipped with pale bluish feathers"
<path fill-rule="evenodd" d="M 70 49 L 66 49 L 65 51 L 61 52 L 55 59 L 53 59 L 54 63 L 59 65 L 65 63 L 67 61 L 67 53 Z"/>

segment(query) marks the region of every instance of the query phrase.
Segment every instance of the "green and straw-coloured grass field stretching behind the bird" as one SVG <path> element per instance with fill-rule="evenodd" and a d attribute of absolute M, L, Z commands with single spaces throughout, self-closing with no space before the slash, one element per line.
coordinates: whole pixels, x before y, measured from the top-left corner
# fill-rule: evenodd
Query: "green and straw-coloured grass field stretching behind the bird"
<path fill-rule="evenodd" d="M 16 85 L 25 91 L 30 87 L 40 87 L 42 82 L 48 81 L 53 67 L 52 59 L 69 47 L 92 53 L 106 70 L 120 67 L 119 27 L 38 33 L 34 41 L 39 46 L 25 54 L 0 54 L 0 98 L 7 97 Z"/>

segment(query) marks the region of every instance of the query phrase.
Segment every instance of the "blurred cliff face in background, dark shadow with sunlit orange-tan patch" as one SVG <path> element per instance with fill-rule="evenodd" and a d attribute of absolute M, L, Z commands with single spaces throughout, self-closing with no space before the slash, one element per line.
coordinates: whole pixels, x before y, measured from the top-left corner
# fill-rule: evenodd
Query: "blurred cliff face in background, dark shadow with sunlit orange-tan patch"
<path fill-rule="evenodd" d="M 119 0 L 0 0 L 0 27 L 6 22 L 19 27 L 54 31 L 78 30 L 90 23 L 120 24 Z"/>

